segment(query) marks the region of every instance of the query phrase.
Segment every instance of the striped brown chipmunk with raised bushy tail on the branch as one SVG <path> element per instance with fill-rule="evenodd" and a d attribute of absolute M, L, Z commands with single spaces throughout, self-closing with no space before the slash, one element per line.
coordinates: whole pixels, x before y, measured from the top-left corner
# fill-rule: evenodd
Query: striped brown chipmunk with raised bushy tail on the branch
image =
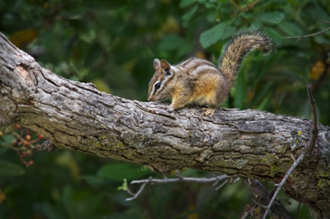
<path fill-rule="evenodd" d="M 269 52 L 272 40 L 260 31 L 246 31 L 234 35 L 219 58 L 219 67 L 202 58 L 189 58 L 178 65 L 155 58 L 155 74 L 149 83 L 148 101 L 172 99 L 168 111 L 187 104 L 207 105 L 205 115 L 212 116 L 225 101 L 242 60 L 253 49 Z"/>

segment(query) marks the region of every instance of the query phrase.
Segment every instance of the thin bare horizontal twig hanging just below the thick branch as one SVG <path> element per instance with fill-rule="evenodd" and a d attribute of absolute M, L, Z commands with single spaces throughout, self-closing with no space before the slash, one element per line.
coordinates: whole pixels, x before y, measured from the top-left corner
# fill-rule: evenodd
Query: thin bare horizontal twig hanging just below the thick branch
<path fill-rule="evenodd" d="M 177 182 L 195 182 L 198 184 L 213 184 L 214 186 L 216 184 L 219 184 L 219 182 L 221 181 L 226 181 L 226 183 L 228 183 L 230 181 L 230 179 L 235 179 L 233 182 L 236 182 L 237 179 L 239 179 L 236 176 L 227 176 L 227 175 L 221 175 L 221 176 L 217 176 L 217 177 L 210 177 L 210 178 L 198 178 L 198 177 L 182 177 L 179 175 L 179 173 L 177 172 L 177 178 L 167 178 L 165 177 L 164 179 L 152 179 L 152 177 L 149 177 L 149 179 L 141 179 L 141 180 L 134 180 L 131 182 L 131 184 L 142 184 L 142 186 L 139 188 L 139 190 L 134 194 L 132 194 L 132 192 L 130 193 L 131 195 L 133 195 L 133 197 L 129 197 L 126 199 L 126 201 L 131 201 L 136 199 L 136 197 L 138 197 L 142 190 L 144 189 L 144 187 L 147 184 L 150 185 L 157 185 L 157 184 L 173 184 L 173 183 L 177 183 Z M 218 190 L 219 188 L 221 188 L 224 184 L 221 184 L 220 186 L 218 186 L 217 188 L 215 188 L 216 190 Z"/>

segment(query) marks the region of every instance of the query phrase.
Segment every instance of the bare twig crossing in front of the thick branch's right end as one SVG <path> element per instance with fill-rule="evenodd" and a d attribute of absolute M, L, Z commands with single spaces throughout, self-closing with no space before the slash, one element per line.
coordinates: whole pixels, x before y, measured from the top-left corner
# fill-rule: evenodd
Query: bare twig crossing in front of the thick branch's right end
<path fill-rule="evenodd" d="M 307 93 L 308 93 L 308 98 L 309 98 L 309 101 L 311 102 L 311 108 L 312 108 L 312 113 L 313 113 L 313 129 L 312 129 L 312 136 L 311 136 L 311 141 L 309 143 L 308 146 L 306 146 L 305 149 L 303 149 L 301 151 L 301 154 L 299 155 L 298 159 L 296 161 L 294 161 L 294 163 L 292 164 L 291 168 L 288 170 L 288 172 L 285 173 L 282 181 L 280 184 L 277 185 L 277 188 L 275 190 L 275 193 L 272 197 L 272 200 L 270 200 L 268 206 L 267 206 L 267 209 L 265 211 L 265 214 L 264 216 L 262 217 L 262 219 L 265 219 L 270 208 L 272 207 L 272 204 L 274 203 L 275 201 L 275 198 L 276 198 L 276 195 L 278 194 L 278 192 L 281 190 L 281 188 L 283 188 L 284 184 L 285 184 L 285 181 L 288 179 L 288 177 L 291 175 L 291 173 L 293 172 L 293 170 L 295 168 L 297 168 L 297 166 L 302 162 L 304 161 L 305 159 L 305 156 L 306 154 L 311 154 L 313 152 L 313 149 L 315 147 L 315 143 L 316 143 L 316 140 L 317 140 L 317 134 L 318 134 L 318 131 L 317 131 L 317 113 L 315 111 L 315 101 L 314 101 L 314 98 L 313 98 L 313 95 L 312 95 L 312 92 L 311 92 L 311 84 L 310 83 L 307 83 L 306 85 L 306 89 L 307 89 Z"/>

